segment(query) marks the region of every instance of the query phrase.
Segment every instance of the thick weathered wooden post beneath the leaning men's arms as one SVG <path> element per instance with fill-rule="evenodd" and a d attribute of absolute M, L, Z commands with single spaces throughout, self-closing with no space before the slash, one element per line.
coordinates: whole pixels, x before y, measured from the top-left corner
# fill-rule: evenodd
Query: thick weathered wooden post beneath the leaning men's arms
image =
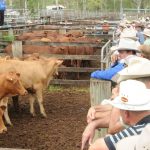
<path fill-rule="evenodd" d="M 90 79 L 90 99 L 91 106 L 101 104 L 103 99 L 108 99 L 111 96 L 111 81 Z M 96 130 L 94 141 L 99 137 L 104 137 L 107 134 L 107 128 Z"/>

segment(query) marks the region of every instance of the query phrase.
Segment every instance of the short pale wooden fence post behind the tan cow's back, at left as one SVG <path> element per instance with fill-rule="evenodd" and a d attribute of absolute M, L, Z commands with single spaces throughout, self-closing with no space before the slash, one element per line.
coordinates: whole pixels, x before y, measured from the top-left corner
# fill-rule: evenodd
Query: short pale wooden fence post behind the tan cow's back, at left
<path fill-rule="evenodd" d="M 22 57 L 22 41 L 14 41 L 12 43 L 12 54 L 13 57 Z"/>

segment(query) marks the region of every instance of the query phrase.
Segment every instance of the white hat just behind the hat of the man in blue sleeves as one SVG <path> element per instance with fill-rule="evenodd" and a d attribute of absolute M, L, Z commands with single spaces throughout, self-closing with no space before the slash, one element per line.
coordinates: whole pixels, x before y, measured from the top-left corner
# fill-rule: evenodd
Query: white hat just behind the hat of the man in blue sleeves
<path fill-rule="evenodd" d="M 136 36 L 136 31 L 134 29 L 129 29 L 129 28 L 123 30 L 123 32 L 120 35 L 120 38 L 130 38 L 135 41 L 138 40 L 138 37 Z"/>

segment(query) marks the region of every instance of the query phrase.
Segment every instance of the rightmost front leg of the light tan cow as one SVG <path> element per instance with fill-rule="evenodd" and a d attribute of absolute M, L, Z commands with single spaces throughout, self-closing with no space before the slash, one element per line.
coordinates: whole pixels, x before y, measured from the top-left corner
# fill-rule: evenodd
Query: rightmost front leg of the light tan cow
<path fill-rule="evenodd" d="M 37 90 L 36 95 L 37 95 L 37 100 L 38 100 L 38 103 L 40 106 L 40 112 L 41 112 L 42 116 L 46 118 L 47 115 L 46 115 L 46 112 L 45 112 L 45 109 L 43 106 L 43 91 L 42 91 L 42 89 Z"/>

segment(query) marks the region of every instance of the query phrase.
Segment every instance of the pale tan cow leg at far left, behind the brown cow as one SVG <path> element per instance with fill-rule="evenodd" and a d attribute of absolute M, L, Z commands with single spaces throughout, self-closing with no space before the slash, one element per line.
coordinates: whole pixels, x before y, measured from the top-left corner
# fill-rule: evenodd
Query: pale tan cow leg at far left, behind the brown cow
<path fill-rule="evenodd" d="M 11 123 L 8 115 L 8 97 L 3 98 L 2 103 L 3 103 L 2 106 L 6 107 L 6 109 L 4 110 L 4 119 L 8 125 L 12 126 L 13 124 Z"/>

